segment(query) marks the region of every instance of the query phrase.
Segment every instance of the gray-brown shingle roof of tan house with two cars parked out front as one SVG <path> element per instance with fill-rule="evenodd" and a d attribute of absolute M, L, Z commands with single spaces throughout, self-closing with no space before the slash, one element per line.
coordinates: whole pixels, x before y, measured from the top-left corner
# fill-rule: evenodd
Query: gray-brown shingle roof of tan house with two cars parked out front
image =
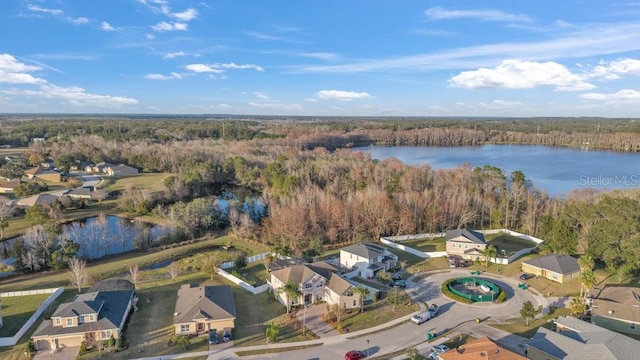
<path fill-rule="evenodd" d="M 235 319 L 231 286 L 198 286 L 185 284 L 178 290 L 174 324 L 184 324 L 194 319 Z"/>

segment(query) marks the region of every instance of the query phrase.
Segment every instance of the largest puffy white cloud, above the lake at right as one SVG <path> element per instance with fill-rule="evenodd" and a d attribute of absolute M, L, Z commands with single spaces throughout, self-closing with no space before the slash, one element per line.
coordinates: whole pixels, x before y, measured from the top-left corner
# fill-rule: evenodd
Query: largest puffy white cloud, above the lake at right
<path fill-rule="evenodd" d="M 465 89 L 553 86 L 556 90 L 579 91 L 595 88 L 579 75 L 572 74 L 564 65 L 551 61 L 540 63 L 522 60 L 504 60 L 493 69 L 463 71 L 449 79 L 449 83 Z"/>

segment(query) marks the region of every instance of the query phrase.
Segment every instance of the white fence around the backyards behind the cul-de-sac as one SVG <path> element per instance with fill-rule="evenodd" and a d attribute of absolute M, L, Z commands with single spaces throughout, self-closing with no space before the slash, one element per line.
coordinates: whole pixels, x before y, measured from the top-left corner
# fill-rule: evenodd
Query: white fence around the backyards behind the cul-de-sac
<path fill-rule="evenodd" d="M 525 235 L 525 234 L 521 234 L 517 231 L 512 231 L 509 229 L 491 229 L 491 230 L 478 230 L 478 232 L 483 233 L 485 235 L 490 235 L 490 234 L 499 234 L 499 233 L 505 233 L 505 234 L 509 234 L 511 236 L 515 236 L 524 240 L 529 240 L 529 241 L 533 241 L 536 243 L 536 247 L 537 245 L 540 245 L 541 243 L 544 242 L 544 240 L 539 239 L 537 237 L 533 237 L 531 235 Z M 436 239 L 436 238 L 441 238 L 444 237 L 445 233 L 433 233 L 433 234 L 415 234 L 415 235 L 403 235 L 403 236 L 387 236 L 387 237 L 381 237 L 380 238 L 380 242 L 390 246 L 394 249 L 398 249 L 398 250 L 402 250 L 405 252 L 408 252 L 410 254 L 419 256 L 423 259 L 427 259 L 427 258 L 432 258 L 432 257 L 441 257 L 441 256 L 446 256 L 447 252 L 446 251 L 431 251 L 431 252 L 426 252 L 426 251 L 420 251 L 417 249 L 414 249 L 412 247 L 406 246 L 404 244 L 399 244 L 398 242 L 402 242 L 402 241 L 406 241 L 406 240 L 414 240 L 414 239 Z M 515 254 L 511 255 L 509 258 L 501 258 L 501 257 L 495 257 L 495 258 L 491 258 L 489 259 L 490 262 L 496 263 L 496 264 L 502 264 L 502 265 L 507 265 L 509 263 L 514 262 L 515 260 L 517 260 L 518 258 L 529 254 L 530 252 L 532 252 L 533 250 L 535 250 L 536 247 L 531 247 L 531 248 L 526 248 L 526 249 L 522 249 L 518 252 L 516 252 Z"/>

